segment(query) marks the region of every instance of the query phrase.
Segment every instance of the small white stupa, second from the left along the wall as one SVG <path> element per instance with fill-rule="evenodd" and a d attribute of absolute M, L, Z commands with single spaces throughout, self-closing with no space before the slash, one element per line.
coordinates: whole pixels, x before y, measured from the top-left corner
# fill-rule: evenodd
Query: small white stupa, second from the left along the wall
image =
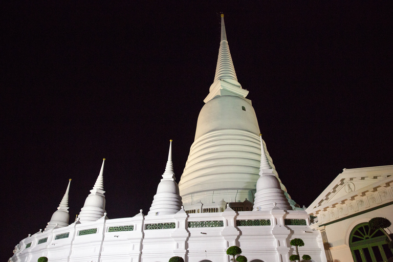
<path fill-rule="evenodd" d="M 80 223 L 91 222 L 100 219 L 104 216 L 105 211 L 105 191 L 104 191 L 104 162 L 102 161 L 102 166 L 96 183 L 92 190 L 90 190 L 90 194 L 84 201 L 84 205 L 80 210 L 80 214 L 78 216 Z"/>

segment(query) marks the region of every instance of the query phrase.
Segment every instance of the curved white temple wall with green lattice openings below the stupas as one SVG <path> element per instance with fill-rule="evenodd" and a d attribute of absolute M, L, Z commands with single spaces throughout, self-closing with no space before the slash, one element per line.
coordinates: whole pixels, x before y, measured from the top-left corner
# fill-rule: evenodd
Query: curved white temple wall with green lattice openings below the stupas
<path fill-rule="evenodd" d="M 23 239 L 11 261 L 35 262 L 47 256 L 51 262 L 166 262 L 172 256 L 181 256 L 185 262 L 229 262 L 226 250 L 236 245 L 249 261 L 281 262 L 295 252 L 289 246 L 295 237 L 305 243 L 299 248 L 300 255 L 326 261 L 318 240 L 320 232 L 310 228 L 309 215 L 277 208 L 241 212 L 227 208 L 224 212 L 199 214 L 181 210 L 174 215 L 140 213 L 124 219 L 103 217 L 95 222 L 76 222 Z"/>

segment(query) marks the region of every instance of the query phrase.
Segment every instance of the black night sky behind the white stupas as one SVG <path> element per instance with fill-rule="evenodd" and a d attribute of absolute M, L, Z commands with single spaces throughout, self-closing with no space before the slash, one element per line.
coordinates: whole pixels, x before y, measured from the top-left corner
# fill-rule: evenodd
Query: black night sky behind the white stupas
<path fill-rule="evenodd" d="M 170 139 L 179 182 L 221 12 L 238 82 L 300 206 L 343 168 L 393 164 L 391 1 L 164 2 L 3 4 L 2 261 L 45 228 L 70 178 L 74 221 L 103 158 L 110 219 L 148 212 Z"/>

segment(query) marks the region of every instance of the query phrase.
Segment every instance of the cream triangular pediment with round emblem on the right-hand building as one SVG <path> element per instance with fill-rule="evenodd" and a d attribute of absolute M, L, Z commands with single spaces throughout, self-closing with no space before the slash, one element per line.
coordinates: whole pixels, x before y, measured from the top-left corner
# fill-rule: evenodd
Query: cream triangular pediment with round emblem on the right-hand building
<path fill-rule="evenodd" d="M 393 180 L 393 165 L 343 169 L 333 182 L 307 208 L 308 213 L 326 211 L 330 207 L 354 200 L 359 195 L 389 186 Z"/>

